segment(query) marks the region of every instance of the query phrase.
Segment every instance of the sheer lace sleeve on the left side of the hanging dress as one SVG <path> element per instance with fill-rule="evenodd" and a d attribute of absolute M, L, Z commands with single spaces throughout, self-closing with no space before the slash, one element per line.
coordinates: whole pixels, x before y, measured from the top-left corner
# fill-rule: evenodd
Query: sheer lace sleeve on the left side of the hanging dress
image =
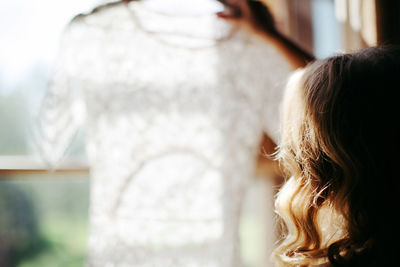
<path fill-rule="evenodd" d="M 61 38 L 53 77 L 37 121 L 40 154 L 51 168 L 55 168 L 63 158 L 85 117 L 84 102 L 75 73 L 78 62 L 73 28 L 70 24 Z"/>

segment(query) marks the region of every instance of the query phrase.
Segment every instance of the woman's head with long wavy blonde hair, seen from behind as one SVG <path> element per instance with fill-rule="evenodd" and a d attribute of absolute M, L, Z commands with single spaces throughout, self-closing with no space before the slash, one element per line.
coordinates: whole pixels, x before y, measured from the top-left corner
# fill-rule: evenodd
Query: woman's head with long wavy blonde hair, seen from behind
<path fill-rule="evenodd" d="M 400 48 L 318 60 L 294 76 L 278 154 L 291 178 L 276 200 L 286 230 L 277 261 L 395 266 Z"/>

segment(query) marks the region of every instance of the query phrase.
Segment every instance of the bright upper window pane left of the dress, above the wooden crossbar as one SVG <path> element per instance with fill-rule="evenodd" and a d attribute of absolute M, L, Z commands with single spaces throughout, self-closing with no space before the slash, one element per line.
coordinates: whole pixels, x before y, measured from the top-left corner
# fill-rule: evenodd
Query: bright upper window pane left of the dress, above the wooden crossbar
<path fill-rule="evenodd" d="M 35 116 L 65 25 L 99 0 L 0 2 L 0 155 L 32 155 Z M 82 142 L 77 145 L 81 147 Z M 74 148 L 72 154 L 82 154 Z"/>

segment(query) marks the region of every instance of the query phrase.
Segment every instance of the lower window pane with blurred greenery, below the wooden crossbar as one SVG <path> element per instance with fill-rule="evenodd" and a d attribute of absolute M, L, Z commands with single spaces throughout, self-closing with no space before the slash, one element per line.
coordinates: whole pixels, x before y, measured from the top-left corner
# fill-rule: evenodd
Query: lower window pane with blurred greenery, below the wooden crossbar
<path fill-rule="evenodd" d="M 83 266 L 88 183 L 86 175 L 0 174 L 0 266 Z"/>

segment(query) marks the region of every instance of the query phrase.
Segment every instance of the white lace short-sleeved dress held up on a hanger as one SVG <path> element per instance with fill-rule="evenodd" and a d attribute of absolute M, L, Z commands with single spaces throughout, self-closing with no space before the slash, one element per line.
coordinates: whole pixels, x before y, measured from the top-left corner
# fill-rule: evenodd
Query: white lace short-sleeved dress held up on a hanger
<path fill-rule="evenodd" d="M 240 266 L 242 198 L 263 131 L 278 136 L 290 71 L 264 39 L 214 15 L 131 2 L 77 16 L 40 129 L 55 162 L 85 122 L 87 265 Z"/>

